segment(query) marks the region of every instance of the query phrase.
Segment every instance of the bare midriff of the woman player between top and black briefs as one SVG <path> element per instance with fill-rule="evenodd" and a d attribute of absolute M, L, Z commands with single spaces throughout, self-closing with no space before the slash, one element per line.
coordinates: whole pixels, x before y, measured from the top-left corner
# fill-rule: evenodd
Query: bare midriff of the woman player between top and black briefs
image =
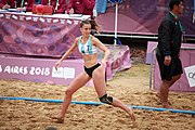
<path fill-rule="evenodd" d="M 87 68 L 90 68 L 94 65 L 96 65 L 98 63 L 98 54 L 84 54 L 83 56 L 83 61 L 84 61 L 84 66 Z"/>

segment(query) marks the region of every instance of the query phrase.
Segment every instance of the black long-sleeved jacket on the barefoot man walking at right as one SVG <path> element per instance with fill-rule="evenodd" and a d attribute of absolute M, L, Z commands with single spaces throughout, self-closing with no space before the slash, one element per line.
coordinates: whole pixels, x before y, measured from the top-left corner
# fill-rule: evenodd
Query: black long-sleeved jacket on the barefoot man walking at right
<path fill-rule="evenodd" d="M 164 17 L 158 28 L 158 50 L 162 55 L 178 55 L 180 53 L 182 31 L 179 20 L 171 13 Z"/>

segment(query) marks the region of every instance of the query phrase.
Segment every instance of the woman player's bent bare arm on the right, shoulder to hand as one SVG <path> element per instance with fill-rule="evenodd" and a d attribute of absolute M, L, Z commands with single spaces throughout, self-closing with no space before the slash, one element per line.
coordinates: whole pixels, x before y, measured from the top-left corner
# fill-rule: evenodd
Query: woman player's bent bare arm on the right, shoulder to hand
<path fill-rule="evenodd" d="M 104 58 L 102 60 L 102 62 L 107 62 L 108 56 L 110 54 L 110 51 L 106 48 L 105 44 L 103 44 L 98 38 L 95 38 L 94 36 L 92 37 L 92 43 L 93 46 L 95 46 L 96 48 L 99 48 L 100 50 L 102 50 L 104 52 Z"/>

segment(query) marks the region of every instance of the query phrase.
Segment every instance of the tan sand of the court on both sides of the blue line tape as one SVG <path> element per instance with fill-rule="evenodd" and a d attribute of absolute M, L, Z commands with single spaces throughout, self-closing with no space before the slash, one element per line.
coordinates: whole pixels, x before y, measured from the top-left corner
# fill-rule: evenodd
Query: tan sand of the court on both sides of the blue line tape
<path fill-rule="evenodd" d="M 134 106 L 160 107 L 156 92 L 150 90 L 150 66 L 132 65 L 128 70 L 117 73 L 108 81 L 107 92 L 126 104 Z M 139 79 L 139 81 L 138 81 Z M 63 100 L 66 86 L 36 83 L 20 80 L 0 80 L 0 95 L 14 98 L 36 98 Z M 192 92 L 170 92 L 170 103 L 176 109 L 194 110 L 195 94 Z M 73 101 L 99 102 L 93 87 L 83 87 L 74 94 Z M 52 122 L 51 116 L 58 114 L 60 103 L 31 102 L 23 100 L 0 100 L 1 130 L 193 130 L 195 118 L 188 114 L 156 112 L 134 108 L 136 123 L 133 125 L 125 112 L 109 105 L 72 104 L 65 122 Z"/>

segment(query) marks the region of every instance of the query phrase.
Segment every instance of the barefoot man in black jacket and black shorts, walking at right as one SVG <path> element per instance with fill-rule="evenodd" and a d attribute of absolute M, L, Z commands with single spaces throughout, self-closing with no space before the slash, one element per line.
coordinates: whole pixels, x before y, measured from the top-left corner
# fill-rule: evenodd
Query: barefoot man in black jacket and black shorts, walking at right
<path fill-rule="evenodd" d="M 181 77 L 182 63 L 179 57 L 183 26 L 179 15 L 183 12 L 183 0 L 171 0 L 170 12 L 164 17 L 158 28 L 158 46 L 156 57 L 159 65 L 161 84 L 158 95 L 162 107 L 170 108 L 168 102 L 169 88 Z"/>

